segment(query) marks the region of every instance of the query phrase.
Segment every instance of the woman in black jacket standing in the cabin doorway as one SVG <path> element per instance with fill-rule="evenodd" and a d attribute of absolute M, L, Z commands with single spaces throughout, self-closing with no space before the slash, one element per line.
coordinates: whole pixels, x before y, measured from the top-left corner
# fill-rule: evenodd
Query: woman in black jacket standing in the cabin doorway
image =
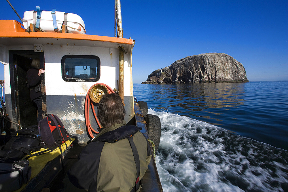
<path fill-rule="evenodd" d="M 42 94 L 41 94 L 41 79 L 40 75 L 45 72 L 40 69 L 40 60 L 33 59 L 31 69 L 27 71 L 27 82 L 30 88 L 30 98 L 36 105 L 38 110 L 37 123 L 42 119 Z"/>

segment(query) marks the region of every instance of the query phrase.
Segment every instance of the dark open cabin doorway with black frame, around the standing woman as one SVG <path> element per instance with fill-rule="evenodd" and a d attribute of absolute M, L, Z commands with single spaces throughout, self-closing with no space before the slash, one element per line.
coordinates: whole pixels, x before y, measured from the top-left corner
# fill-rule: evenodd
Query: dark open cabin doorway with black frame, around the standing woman
<path fill-rule="evenodd" d="M 31 68 L 33 59 L 40 60 L 40 68 L 44 69 L 44 53 L 34 51 L 9 50 L 10 85 L 13 121 L 22 128 L 37 125 L 37 109 L 30 99 L 30 89 L 27 86 L 27 71 Z M 44 76 L 41 84 L 45 86 Z M 45 92 L 42 91 L 42 101 Z M 45 113 L 45 111 L 43 111 Z M 18 130 L 18 127 L 14 127 Z"/>

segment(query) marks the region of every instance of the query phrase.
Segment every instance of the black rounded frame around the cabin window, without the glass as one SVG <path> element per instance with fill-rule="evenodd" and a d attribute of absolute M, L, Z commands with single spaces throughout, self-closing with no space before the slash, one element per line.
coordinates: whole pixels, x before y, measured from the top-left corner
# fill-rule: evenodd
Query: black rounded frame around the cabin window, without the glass
<path fill-rule="evenodd" d="M 97 77 L 93 78 L 93 79 L 79 79 L 79 78 L 66 78 L 65 77 L 65 59 L 67 58 L 84 58 L 84 59 L 96 59 L 97 61 Z M 100 79 L 100 58 L 96 55 L 64 55 L 61 59 L 61 74 L 62 74 L 62 79 L 64 81 L 68 81 L 68 82 L 96 82 L 99 81 Z"/>

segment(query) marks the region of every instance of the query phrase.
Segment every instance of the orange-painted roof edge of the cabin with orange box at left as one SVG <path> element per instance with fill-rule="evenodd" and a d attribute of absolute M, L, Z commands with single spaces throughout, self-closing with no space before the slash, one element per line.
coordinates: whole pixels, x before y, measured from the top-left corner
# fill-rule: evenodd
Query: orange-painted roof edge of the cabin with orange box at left
<path fill-rule="evenodd" d="M 133 39 L 124 39 L 117 37 L 107 37 L 99 35 L 82 35 L 82 34 L 73 34 L 73 33 L 50 33 L 50 32 L 19 32 L 18 29 L 14 30 L 11 28 L 11 23 L 14 20 L 0 20 L 0 26 L 2 27 L 5 21 L 10 21 L 10 25 L 5 27 L 5 30 L 0 30 L 0 38 L 53 38 L 53 39 L 76 39 L 76 40 L 88 40 L 88 41 L 103 41 L 119 44 L 128 44 L 133 45 Z M 11 22 L 12 21 L 12 22 Z M 15 21 L 17 22 L 17 21 Z M 7 22 L 9 23 L 9 22 Z M 20 24 L 18 22 L 18 24 Z M 19 26 L 20 27 L 20 26 Z"/>

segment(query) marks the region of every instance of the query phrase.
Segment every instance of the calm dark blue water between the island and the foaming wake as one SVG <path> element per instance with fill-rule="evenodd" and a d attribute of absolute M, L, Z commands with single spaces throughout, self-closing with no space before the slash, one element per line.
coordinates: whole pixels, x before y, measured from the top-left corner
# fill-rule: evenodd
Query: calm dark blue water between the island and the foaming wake
<path fill-rule="evenodd" d="M 179 114 L 288 150 L 288 81 L 134 84 L 148 108 Z"/>

